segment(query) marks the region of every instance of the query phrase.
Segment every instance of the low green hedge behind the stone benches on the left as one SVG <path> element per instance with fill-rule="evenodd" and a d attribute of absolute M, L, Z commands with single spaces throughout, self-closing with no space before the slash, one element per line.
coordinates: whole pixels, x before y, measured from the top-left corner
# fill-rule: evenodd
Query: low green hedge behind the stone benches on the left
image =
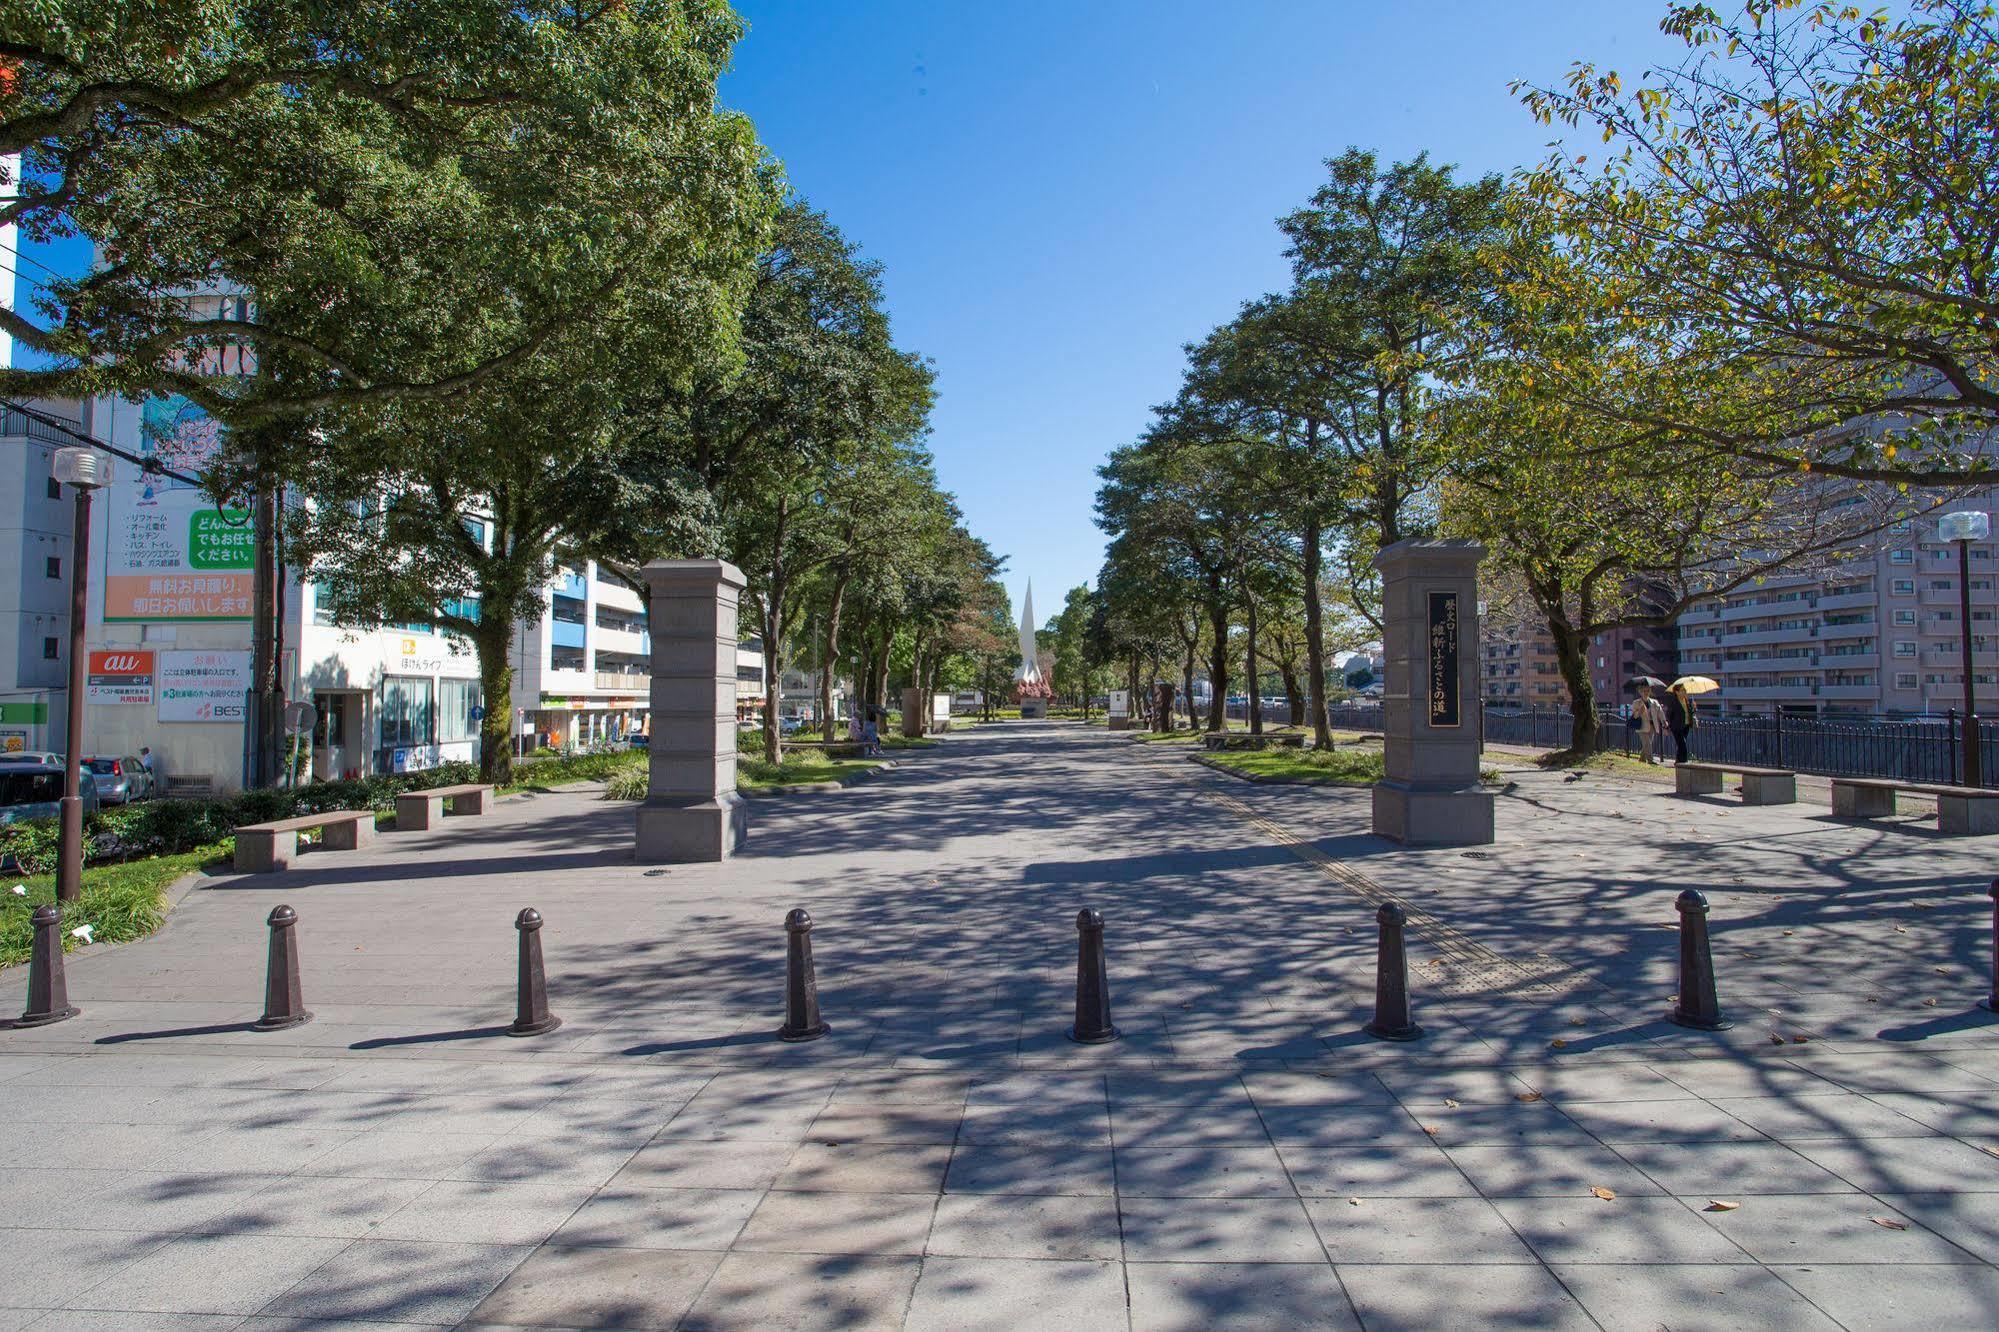
<path fill-rule="evenodd" d="M 616 776 L 634 764 L 644 764 L 644 752 L 542 758 L 516 764 L 512 784 L 588 782 Z M 474 764 L 444 764 L 424 772 L 396 772 L 352 782 L 246 790 L 214 800 L 146 800 L 142 804 L 102 806 L 84 820 L 84 864 L 178 856 L 198 846 L 222 842 L 244 824 L 264 824 L 296 814 L 324 814 L 328 810 L 386 814 L 396 808 L 400 792 L 478 780 L 480 770 Z M 58 820 L 54 818 L 0 826 L 0 860 L 12 860 L 20 874 L 50 874 L 56 868 L 58 836 Z"/>

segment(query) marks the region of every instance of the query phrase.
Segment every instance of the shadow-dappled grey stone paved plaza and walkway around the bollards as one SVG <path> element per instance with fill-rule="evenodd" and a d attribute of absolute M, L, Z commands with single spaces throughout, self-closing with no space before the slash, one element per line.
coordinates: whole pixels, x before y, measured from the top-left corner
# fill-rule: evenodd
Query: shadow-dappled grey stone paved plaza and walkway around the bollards
<path fill-rule="evenodd" d="M 1007 724 L 724 866 L 568 790 L 204 880 L 0 1032 L 0 1332 L 1999 1320 L 1995 838 L 1503 776 L 1497 844 L 1407 852 L 1365 790 Z M 1663 1020 L 1683 888 L 1727 1032 Z M 1359 1030 L 1389 898 L 1413 1044 Z M 252 1032 L 280 902 L 316 1018 Z M 564 1026 L 510 1040 L 522 906 Z"/>

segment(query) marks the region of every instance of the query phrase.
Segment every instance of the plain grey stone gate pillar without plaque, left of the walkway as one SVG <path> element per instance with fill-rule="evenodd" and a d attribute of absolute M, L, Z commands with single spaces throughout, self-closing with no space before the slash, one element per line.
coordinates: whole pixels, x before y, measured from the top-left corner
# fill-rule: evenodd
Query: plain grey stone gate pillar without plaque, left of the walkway
<path fill-rule="evenodd" d="M 736 794 L 744 576 L 726 560 L 654 560 L 642 574 L 652 592 L 652 768 L 638 810 L 638 860 L 726 860 L 750 832 L 750 810 Z"/>

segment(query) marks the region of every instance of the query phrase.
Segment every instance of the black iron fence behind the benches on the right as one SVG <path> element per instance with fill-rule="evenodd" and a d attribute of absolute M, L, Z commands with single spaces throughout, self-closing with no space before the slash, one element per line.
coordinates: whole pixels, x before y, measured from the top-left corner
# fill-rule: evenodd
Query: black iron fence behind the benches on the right
<path fill-rule="evenodd" d="M 1333 704 L 1331 724 L 1341 730 L 1381 730 L 1381 708 Z M 1481 708 L 1487 744 L 1535 750 L 1567 748 L 1573 736 L 1567 708 Z M 1801 716 L 1787 712 L 1701 716 L 1687 748 L 1695 760 L 1789 768 L 1819 776 L 1879 776 L 1907 782 L 1957 782 L 1963 768 L 1963 718 L 1945 716 Z M 1985 754 L 1999 752 L 1999 722 L 1979 720 Z M 1619 712 L 1597 716 L 1597 752 L 1637 754 L 1639 736 Z M 1673 756 L 1671 736 L 1659 736 L 1659 754 Z M 1985 764 L 1985 786 L 1999 788 L 1999 772 Z"/>

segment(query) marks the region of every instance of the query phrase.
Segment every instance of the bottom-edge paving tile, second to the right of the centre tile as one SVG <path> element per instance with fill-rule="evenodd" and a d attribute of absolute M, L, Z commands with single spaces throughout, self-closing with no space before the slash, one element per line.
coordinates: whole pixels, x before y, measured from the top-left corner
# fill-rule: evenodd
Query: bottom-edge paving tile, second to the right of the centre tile
<path fill-rule="evenodd" d="M 1583 1306 L 1541 1264 L 1335 1268 L 1369 1328 L 1595 1328 Z"/>

